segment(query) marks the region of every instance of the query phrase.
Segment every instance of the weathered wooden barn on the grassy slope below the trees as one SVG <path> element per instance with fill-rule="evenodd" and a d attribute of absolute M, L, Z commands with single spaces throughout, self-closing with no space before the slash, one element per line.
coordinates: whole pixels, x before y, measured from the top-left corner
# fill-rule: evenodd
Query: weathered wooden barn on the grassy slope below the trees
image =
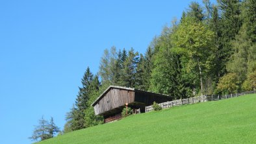
<path fill-rule="evenodd" d="M 103 115 L 105 123 L 120 119 L 121 112 L 127 103 L 134 110 L 139 109 L 145 112 L 145 107 L 153 102 L 172 101 L 168 95 L 152 93 L 149 91 L 137 90 L 134 88 L 125 88 L 120 86 L 109 86 L 99 97 L 92 103 L 96 115 Z"/>

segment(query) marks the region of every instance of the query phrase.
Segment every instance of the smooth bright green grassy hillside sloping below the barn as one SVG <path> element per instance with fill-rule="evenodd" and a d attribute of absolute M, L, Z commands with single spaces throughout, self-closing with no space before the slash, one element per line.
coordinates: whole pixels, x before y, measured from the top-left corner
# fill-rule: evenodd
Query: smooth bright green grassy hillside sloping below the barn
<path fill-rule="evenodd" d="M 132 115 L 49 143 L 256 143 L 256 94 Z"/>

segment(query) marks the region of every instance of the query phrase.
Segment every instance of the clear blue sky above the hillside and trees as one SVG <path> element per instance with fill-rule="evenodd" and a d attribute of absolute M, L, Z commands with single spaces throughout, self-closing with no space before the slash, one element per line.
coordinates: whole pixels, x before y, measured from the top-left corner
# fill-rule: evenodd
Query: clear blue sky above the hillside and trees
<path fill-rule="evenodd" d="M 44 115 L 63 128 L 103 50 L 144 53 L 191 1 L 0 1 L 0 143 L 31 143 Z M 201 1 L 200 1 L 201 2 Z"/>

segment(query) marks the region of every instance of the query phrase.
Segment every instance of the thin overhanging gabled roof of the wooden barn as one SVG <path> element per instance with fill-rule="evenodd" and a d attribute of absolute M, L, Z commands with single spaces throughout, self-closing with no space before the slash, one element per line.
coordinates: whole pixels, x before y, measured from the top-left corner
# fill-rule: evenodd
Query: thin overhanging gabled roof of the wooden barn
<path fill-rule="evenodd" d="M 99 97 L 97 97 L 96 101 L 94 101 L 91 104 L 91 106 L 94 106 L 102 97 L 104 97 L 105 93 L 107 93 L 111 88 L 118 88 L 118 89 L 122 89 L 122 90 L 130 90 L 130 91 L 140 91 L 140 92 L 144 92 L 144 93 L 153 93 L 150 91 L 144 91 L 144 90 L 135 89 L 135 88 L 126 88 L 126 87 L 122 87 L 122 86 L 109 86 L 109 88 L 107 88 L 107 90 L 103 91 L 103 93 L 101 93 L 101 95 L 99 95 Z M 160 93 L 154 93 L 154 94 L 164 96 L 164 97 L 169 96 L 169 95 L 164 95 L 164 94 L 160 94 Z"/>

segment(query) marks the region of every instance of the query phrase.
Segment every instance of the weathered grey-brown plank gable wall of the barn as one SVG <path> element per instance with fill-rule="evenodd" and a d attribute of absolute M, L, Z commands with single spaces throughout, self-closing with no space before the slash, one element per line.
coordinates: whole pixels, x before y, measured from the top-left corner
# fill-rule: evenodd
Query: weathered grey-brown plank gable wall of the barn
<path fill-rule="evenodd" d="M 126 102 L 134 102 L 134 91 L 111 88 L 94 106 L 94 112 L 96 115 L 99 115 L 114 108 L 124 106 Z"/>

